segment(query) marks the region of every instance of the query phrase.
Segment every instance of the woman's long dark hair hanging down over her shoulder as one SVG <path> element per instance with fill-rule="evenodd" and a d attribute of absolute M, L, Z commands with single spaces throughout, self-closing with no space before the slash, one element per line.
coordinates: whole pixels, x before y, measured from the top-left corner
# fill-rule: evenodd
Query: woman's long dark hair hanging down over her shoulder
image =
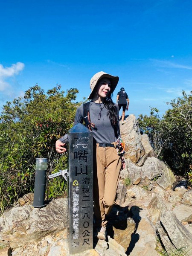
<path fill-rule="evenodd" d="M 111 121 L 111 125 L 115 127 L 118 122 L 118 111 L 115 107 L 115 104 L 113 100 L 111 99 L 111 93 L 108 94 L 105 100 L 105 108 L 108 109 L 107 115 L 109 116 L 109 119 Z"/>

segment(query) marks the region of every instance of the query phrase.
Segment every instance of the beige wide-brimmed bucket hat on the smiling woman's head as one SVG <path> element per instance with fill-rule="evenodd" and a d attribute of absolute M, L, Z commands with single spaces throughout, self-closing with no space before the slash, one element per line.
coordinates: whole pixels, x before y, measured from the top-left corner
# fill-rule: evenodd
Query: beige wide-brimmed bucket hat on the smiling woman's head
<path fill-rule="evenodd" d="M 94 88 L 97 85 L 97 82 L 102 79 L 103 77 L 106 77 L 108 79 L 110 79 L 111 81 L 111 93 L 113 93 L 113 91 L 116 88 L 116 85 L 118 84 L 119 81 L 119 76 L 111 76 L 103 71 L 100 71 L 98 73 L 96 73 L 91 79 L 90 79 L 90 89 L 91 89 L 91 93 L 90 96 L 88 97 L 88 99 L 93 99 L 93 94 L 94 94 Z"/>

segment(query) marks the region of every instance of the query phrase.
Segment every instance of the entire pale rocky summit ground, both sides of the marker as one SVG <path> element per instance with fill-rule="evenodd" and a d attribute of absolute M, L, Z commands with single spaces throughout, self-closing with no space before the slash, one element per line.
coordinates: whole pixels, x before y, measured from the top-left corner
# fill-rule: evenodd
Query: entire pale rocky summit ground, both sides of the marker
<path fill-rule="evenodd" d="M 107 241 L 77 256 L 192 255 L 192 190 L 175 184 L 172 170 L 158 160 L 134 115 L 121 125 L 126 167 L 117 204 L 108 220 Z M 125 186 L 126 185 L 126 186 Z M 33 194 L 0 217 L 0 256 L 69 256 L 67 198 L 32 207 Z"/>

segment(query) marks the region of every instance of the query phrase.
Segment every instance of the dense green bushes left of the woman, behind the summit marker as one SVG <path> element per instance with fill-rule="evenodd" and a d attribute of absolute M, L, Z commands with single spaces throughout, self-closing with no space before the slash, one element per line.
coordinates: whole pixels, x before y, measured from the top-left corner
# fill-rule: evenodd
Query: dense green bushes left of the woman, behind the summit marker
<path fill-rule="evenodd" d="M 0 206 L 15 204 L 17 198 L 34 188 L 35 159 L 48 159 L 48 175 L 67 167 L 67 154 L 58 155 L 55 141 L 73 126 L 77 89 L 61 85 L 47 93 L 36 84 L 13 102 L 3 106 L 0 115 Z M 64 96 L 65 95 L 65 96 Z M 53 179 L 48 186 L 50 197 L 64 195 L 64 179 Z"/>

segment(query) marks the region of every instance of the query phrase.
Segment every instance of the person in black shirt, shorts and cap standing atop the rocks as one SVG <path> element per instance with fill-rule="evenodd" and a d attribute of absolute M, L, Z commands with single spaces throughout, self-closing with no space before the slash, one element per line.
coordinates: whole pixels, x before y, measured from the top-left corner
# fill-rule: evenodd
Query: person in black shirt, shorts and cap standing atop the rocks
<path fill-rule="evenodd" d="M 129 108 L 129 98 L 127 93 L 125 93 L 125 89 L 123 87 L 121 87 L 119 93 L 117 93 L 116 96 L 116 103 L 119 106 L 119 111 L 122 107 L 122 122 L 121 124 L 125 124 L 124 118 L 125 118 L 125 109 L 128 110 Z"/>

